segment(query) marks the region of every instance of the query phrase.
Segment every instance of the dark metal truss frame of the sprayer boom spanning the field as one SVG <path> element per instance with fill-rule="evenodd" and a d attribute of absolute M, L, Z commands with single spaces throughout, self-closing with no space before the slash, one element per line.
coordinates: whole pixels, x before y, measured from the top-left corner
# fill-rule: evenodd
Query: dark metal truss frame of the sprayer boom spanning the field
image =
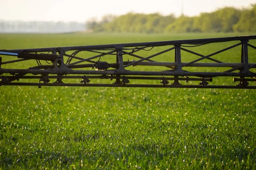
<path fill-rule="evenodd" d="M 256 89 L 255 82 L 256 63 L 249 63 L 248 47 L 255 50 L 256 46 L 251 45 L 249 40 L 256 39 L 256 36 L 239 36 L 208 38 L 195 40 L 175 40 L 161 42 L 140 42 L 110 45 L 87 45 L 72 47 L 54 48 L 33 48 L 18 50 L 0 50 L 0 86 L 1 85 L 31 85 L 31 86 L 83 86 L 83 87 L 152 87 L 152 88 L 249 88 Z M 215 51 L 214 53 L 203 55 L 187 48 L 193 48 L 211 43 L 221 43 L 233 41 L 235 44 L 227 48 Z M 147 57 L 141 56 L 140 51 L 150 51 L 152 48 L 165 47 L 166 49 L 150 54 Z M 226 63 L 212 57 L 235 47 L 241 47 L 241 62 Z M 161 54 L 171 56 L 174 52 L 174 62 L 166 60 L 157 62 L 154 57 Z M 191 55 L 198 56 L 198 59 L 190 62 L 181 62 L 181 51 L 186 51 Z M 78 57 L 78 54 L 86 52 L 92 54 L 91 57 Z M 70 54 L 72 53 L 72 54 Z M 145 53 L 145 52 L 144 52 Z M 9 56 L 15 56 L 10 60 Z M 112 62 L 108 57 L 112 56 Z M 113 62 L 113 56 L 115 62 Z M 124 57 L 131 56 L 137 60 L 124 61 Z M 104 61 L 101 59 L 104 57 Z M 252 56 L 253 57 L 253 56 Z M 12 57 L 13 58 L 13 57 Z M 24 63 L 34 60 L 34 65 L 29 68 L 15 69 L 12 63 Z M 42 65 L 45 60 L 48 64 Z M 209 60 L 210 62 L 201 62 Z M 30 63 L 30 62 L 29 62 Z M 6 68 L 6 66 L 9 66 Z M 27 65 L 27 64 L 26 64 Z M 129 67 L 139 68 L 142 66 L 160 66 L 165 68 L 162 71 L 131 71 Z M 219 68 L 228 67 L 226 71 L 216 72 L 191 72 L 186 71 L 186 67 Z M 96 70 L 88 70 L 96 68 Z M 87 69 L 87 70 L 86 70 Z M 208 85 L 214 82 L 214 77 L 233 77 L 238 85 Z M 22 82 L 15 80 L 24 79 Z M 26 82 L 26 79 L 38 79 L 39 82 Z M 54 79 L 54 81 L 50 81 Z M 64 83 L 64 79 L 81 79 L 79 82 Z M 92 83 L 90 79 L 115 79 L 116 81 L 106 83 Z M 159 84 L 132 84 L 133 79 L 161 80 Z M 174 81 L 169 84 L 168 80 Z M 25 81 L 25 82 L 24 82 Z M 131 83 L 130 83 L 131 81 Z M 199 85 L 181 85 L 179 81 L 199 81 Z"/>

